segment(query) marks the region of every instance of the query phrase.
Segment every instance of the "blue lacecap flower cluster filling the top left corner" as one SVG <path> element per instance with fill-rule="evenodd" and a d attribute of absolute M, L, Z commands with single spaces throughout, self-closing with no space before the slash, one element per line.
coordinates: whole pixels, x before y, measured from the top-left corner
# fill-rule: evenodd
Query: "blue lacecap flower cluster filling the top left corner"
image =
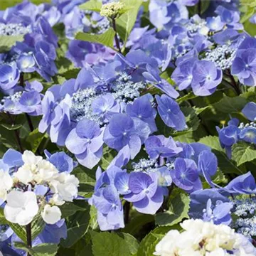
<path fill-rule="evenodd" d="M 54 60 L 58 38 L 48 21 L 50 10 L 41 7 L 26 1 L 3 14 L 0 34 L 24 36 L 23 42 L 1 56 L 0 88 L 4 92 L 14 89 L 20 73 L 36 71 L 48 81 L 57 73 Z"/>

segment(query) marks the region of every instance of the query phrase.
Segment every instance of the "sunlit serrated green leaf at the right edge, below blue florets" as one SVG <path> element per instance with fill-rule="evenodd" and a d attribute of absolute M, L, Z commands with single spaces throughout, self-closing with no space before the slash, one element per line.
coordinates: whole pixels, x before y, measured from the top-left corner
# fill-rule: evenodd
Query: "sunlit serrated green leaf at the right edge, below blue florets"
<path fill-rule="evenodd" d="M 238 142 L 232 146 L 232 158 L 240 166 L 256 159 L 256 150 L 246 142 Z"/>

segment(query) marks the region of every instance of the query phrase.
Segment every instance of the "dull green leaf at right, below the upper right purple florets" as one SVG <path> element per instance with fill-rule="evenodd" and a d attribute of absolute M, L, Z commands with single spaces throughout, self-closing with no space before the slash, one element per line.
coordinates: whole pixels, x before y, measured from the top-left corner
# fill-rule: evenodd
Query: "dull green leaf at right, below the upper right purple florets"
<path fill-rule="evenodd" d="M 213 107 L 219 112 L 231 114 L 233 112 L 240 112 L 246 103 L 247 100 L 241 96 L 224 96 L 219 102 L 213 103 Z"/>

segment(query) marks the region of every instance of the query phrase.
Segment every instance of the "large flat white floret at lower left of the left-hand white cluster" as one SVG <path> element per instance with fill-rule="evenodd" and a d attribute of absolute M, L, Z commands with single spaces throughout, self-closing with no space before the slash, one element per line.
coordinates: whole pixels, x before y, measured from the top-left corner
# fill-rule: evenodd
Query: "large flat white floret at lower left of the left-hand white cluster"
<path fill-rule="evenodd" d="M 11 223 L 28 225 L 38 213 L 36 194 L 32 191 L 11 191 L 6 201 L 4 215 Z"/>

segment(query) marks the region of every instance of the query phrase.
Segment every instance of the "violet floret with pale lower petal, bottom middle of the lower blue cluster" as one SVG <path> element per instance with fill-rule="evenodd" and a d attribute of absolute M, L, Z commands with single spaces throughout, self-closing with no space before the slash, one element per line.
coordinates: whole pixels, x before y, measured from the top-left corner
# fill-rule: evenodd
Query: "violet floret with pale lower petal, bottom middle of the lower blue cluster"
<path fill-rule="evenodd" d="M 132 172 L 129 176 L 129 189 L 131 193 L 125 195 L 124 199 L 132 202 L 139 213 L 154 214 L 164 201 L 156 173 Z"/>

